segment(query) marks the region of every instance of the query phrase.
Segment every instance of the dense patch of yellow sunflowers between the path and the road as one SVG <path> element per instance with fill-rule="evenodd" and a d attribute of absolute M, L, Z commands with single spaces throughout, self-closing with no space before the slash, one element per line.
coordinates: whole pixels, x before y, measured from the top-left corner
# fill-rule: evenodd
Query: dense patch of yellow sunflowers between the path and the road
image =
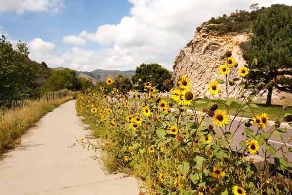
<path fill-rule="evenodd" d="M 171 88 L 167 101 L 161 98 L 155 83 L 141 80 L 130 94 L 122 94 L 117 88 L 106 90 L 114 82 L 111 78 L 96 91 L 79 92 L 76 110 L 90 125 L 94 137 L 100 138 L 98 142 L 84 138 L 80 142 L 84 147 L 101 149 L 109 171 L 140 178 L 148 195 L 291 194 L 292 168 L 286 158 L 291 150 L 287 143 L 275 148 L 268 140 L 272 135 L 280 142 L 288 137 L 280 124 L 288 122 L 292 126 L 292 114 L 283 107 L 275 125 L 268 126 L 271 116 L 252 99 L 273 81 L 248 84 L 257 60 L 250 67 L 238 67 L 231 55 L 226 53 L 218 69 L 222 79 L 208 85 L 208 92 L 220 102 L 210 104 L 195 98 L 186 76 Z M 232 71 L 238 77 L 231 78 Z M 164 85 L 171 87 L 168 81 Z M 236 87 L 240 98 L 227 96 L 229 85 Z M 193 113 L 186 112 L 186 108 Z M 203 112 L 196 114 L 194 111 L 199 109 Z M 252 118 L 241 124 L 245 130 L 240 132 L 243 141 L 239 143 L 233 142 L 239 126 L 230 119 L 231 110 L 232 115 L 238 116 L 252 113 Z M 264 154 L 264 162 L 257 169 L 252 155 L 259 152 Z M 247 159 L 247 155 L 251 158 Z"/>

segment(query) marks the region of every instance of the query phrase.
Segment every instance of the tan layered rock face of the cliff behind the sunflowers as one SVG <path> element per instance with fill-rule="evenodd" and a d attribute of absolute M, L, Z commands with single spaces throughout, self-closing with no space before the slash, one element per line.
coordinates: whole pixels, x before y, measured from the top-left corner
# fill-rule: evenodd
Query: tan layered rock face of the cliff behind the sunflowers
<path fill-rule="evenodd" d="M 246 33 L 218 35 L 215 32 L 207 32 L 206 27 L 207 25 L 198 27 L 193 40 L 176 56 L 173 63 L 173 79 L 177 82 L 182 75 L 187 75 L 192 81 L 192 90 L 196 96 L 213 98 L 208 93 L 208 83 L 217 78 L 224 78 L 218 73 L 218 68 L 225 62 L 226 51 L 232 51 L 232 56 L 239 67 L 246 64 L 239 43 L 247 41 L 248 35 Z M 234 77 L 238 77 L 238 73 L 232 68 L 230 78 Z M 235 88 L 229 86 L 229 94 L 234 95 L 235 92 Z M 286 93 L 273 92 L 274 102 L 285 98 Z"/>

